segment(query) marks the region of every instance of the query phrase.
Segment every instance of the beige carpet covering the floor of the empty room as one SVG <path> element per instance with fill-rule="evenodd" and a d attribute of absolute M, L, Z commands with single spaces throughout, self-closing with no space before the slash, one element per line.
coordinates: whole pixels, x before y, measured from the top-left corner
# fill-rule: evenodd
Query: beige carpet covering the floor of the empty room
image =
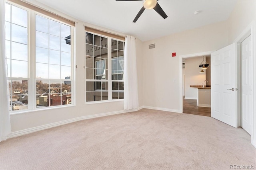
<path fill-rule="evenodd" d="M 0 143 L 1 170 L 256 167 L 250 135 L 206 116 L 142 109 Z"/>

